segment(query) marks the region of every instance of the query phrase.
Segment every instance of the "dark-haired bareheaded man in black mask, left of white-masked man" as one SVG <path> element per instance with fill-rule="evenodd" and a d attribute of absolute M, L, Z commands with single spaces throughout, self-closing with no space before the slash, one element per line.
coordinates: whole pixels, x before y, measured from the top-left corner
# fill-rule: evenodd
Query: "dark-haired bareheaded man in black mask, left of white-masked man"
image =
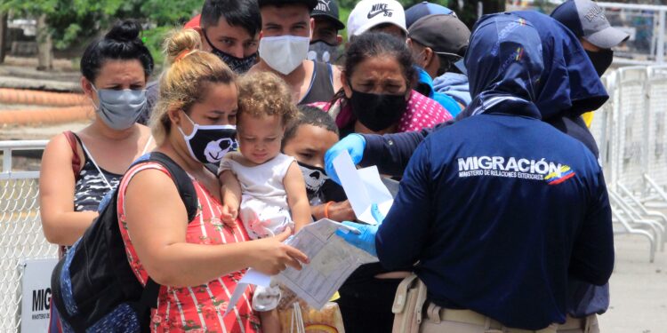
<path fill-rule="evenodd" d="M 185 27 L 197 30 L 202 50 L 212 52 L 237 74 L 243 74 L 258 60 L 261 29 L 257 0 L 206 0 L 201 15 Z M 148 107 L 138 123 L 148 123 L 150 111 L 157 103 L 159 80 L 146 86 Z"/>

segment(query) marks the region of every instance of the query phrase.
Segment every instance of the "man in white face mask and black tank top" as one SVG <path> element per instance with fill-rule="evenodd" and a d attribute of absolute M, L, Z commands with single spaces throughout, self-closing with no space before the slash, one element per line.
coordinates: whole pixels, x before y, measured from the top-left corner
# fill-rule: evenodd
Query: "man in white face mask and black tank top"
<path fill-rule="evenodd" d="M 333 99 L 340 70 L 307 59 L 317 0 L 259 0 L 260 62 L 251 71 L 270 71 L 287 83 L 297 104 Z"/>

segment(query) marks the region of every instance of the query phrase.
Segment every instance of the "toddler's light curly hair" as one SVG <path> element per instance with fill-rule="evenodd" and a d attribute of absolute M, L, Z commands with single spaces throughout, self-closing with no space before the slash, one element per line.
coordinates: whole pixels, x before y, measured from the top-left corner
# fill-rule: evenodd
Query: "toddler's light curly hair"
<path fill-rule="evenodd" d="M 261 118 L 267 115 L 278 115 L 281 123 L 292 122 L 299 110 L 293 103 L 292 91 L 280 77 L 269 72 L 253 72 L 242 75 L 238 79 L 238 112 L 237 125 L 241 115 Z"/>

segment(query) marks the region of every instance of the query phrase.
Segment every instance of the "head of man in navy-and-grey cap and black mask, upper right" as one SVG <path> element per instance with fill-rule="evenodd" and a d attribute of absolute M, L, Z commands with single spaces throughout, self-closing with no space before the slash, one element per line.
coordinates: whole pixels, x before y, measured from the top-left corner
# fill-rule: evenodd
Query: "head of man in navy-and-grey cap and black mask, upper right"
<path fill-rule="evenodd" d="M 588 53 L 598 75 L 602 76 L 614 59 L 612 47 L 628 40 L 630 35 L 613 28 L 602 8 L 591 0 L 568 0 L 551 12 L 551 17 L 577 36 Z"/>

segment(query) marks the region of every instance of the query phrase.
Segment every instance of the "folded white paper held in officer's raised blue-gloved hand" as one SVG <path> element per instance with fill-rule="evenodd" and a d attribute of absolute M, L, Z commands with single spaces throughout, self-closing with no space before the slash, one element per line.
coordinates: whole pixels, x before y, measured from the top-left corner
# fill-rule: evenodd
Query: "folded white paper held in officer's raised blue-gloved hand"
<path fill-rule="evenodd" d="M 341 179 L 342 188 L 350 200 L 357 219 L 370 225 L 377 222 L 371 214 L 371 205 L 377 204 L 383 216 L 387 216 L 394 198 L 384 186 L 376 166 L 357 170 L 347 151 L 333 159 L 333 169 Z"/>

